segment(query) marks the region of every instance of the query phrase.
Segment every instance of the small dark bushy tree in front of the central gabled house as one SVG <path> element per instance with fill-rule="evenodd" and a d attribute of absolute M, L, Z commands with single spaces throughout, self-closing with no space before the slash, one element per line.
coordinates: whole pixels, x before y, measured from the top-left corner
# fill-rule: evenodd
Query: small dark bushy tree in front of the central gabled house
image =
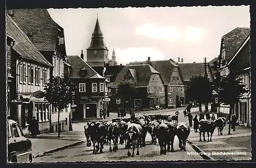
<path fill-rule="evenodd" d="M 117 87 L 115 97 L 122 97 L 124 100 L 128 100 L 131 97 L 136 97 L 138 94 L 135 82 L 133 80 L 123 80 Z"/>

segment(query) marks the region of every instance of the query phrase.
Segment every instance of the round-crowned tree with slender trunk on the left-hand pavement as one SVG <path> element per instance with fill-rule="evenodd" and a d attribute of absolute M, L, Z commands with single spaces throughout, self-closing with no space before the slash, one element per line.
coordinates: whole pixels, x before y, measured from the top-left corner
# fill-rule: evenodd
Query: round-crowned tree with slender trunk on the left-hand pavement
<path fill-rule="evenodd" d="M 59 114 L 60 110 L 73 102 L 78 88 L 66 77 L 53 77 L 44 88 L 45 99 L 58 108 L 58 137 L 60 136 Z"/>

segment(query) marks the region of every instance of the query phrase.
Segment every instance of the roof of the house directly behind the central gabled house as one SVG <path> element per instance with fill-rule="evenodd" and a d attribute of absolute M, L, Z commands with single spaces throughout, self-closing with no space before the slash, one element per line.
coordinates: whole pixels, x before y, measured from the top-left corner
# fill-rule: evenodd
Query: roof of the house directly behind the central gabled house
<path fill-rule="evenodd" d="M 129 65 L 146 64 L 146 62 L 132 62 Z M 171 60 L 152 61 L 151 67 L 161 74 L 164 85 L 169 85 L 174 67 L 178 65 L 174 64 Z"/>

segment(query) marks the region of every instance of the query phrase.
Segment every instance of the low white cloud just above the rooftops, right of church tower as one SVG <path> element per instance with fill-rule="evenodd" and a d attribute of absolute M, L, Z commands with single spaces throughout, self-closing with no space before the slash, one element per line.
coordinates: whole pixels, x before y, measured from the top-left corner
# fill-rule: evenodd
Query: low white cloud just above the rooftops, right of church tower
<path fill-rule="evenodd" d="M 144 47 L 144 48 L 115 48 L 116 61 L 118 64 L 128 64 L 135 61 L 146 61 L 147 57 L 151 60 L 163 60 L 164 54 L 156 48 Z M 112 53 L 109 54 L 111 59 Z"/>

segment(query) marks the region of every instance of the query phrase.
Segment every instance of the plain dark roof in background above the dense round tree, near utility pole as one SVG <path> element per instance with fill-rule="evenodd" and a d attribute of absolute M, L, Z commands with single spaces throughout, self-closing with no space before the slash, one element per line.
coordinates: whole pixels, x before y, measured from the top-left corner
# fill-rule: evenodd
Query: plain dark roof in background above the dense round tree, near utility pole
<path fill-rule="evenodd" d="M 179 67 L 184 81 L 189 81 L 193 76 L 204 76 L 203 63 L 184 63 L 179 64 Z"/>

